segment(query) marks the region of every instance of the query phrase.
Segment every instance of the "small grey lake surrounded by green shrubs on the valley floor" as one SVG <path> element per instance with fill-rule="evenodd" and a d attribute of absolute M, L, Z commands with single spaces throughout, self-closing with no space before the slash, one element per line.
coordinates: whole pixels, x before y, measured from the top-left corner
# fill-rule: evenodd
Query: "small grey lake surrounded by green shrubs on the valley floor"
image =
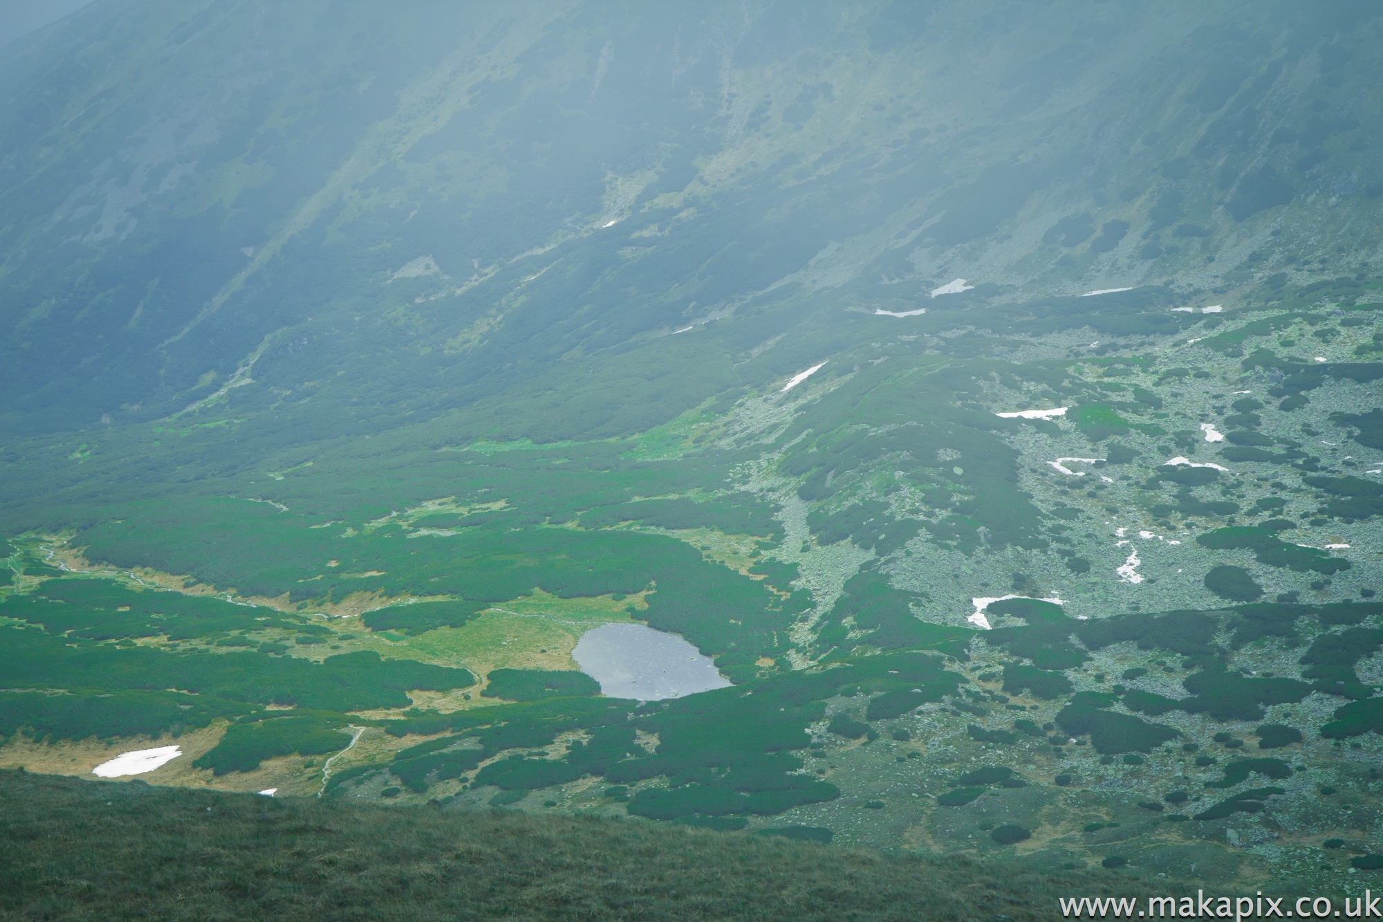
<path fill-rule="evenodd" d="M 610 698 L 661 700 L 732 684 L 686 640 L 644 624 L 602 624 L 582 635 L 571 656 Z"/>

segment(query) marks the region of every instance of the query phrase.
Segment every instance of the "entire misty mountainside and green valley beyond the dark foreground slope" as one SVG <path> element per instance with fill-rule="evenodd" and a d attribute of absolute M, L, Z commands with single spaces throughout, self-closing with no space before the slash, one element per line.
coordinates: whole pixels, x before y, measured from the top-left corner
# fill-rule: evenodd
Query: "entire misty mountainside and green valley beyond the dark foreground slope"
<path fill-rule="evenodd" d="M 95 0 L 0 48 L 0 767 L 1362 879 L 1380 30 Z"/>

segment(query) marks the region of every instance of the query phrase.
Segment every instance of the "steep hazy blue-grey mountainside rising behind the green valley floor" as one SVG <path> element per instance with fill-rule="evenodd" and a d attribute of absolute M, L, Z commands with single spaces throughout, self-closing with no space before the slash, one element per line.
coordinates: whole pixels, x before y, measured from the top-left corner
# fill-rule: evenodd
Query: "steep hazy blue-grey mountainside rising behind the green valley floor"
<path fill-rule="evenodd" d="M 1383 206 L 1376 28 L 1369 4 L 98 3 L 4 55 L 6 428 L 253 378 L 228 399 L 275 429 L 463 411 L 474 436 L 517 392 L 541 411 L 510 437 L 622 435 L 956 275 L 1018 300 L 1353 266 Z"/>

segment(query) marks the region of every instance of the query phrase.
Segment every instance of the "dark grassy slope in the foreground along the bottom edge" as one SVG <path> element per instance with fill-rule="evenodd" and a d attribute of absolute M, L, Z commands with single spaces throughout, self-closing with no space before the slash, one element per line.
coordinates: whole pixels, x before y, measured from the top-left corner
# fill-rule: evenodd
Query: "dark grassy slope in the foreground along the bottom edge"
<path fill-rule="evenodd" d="M 1144 889 L 1111 871 L 0 771 L 6 919 L 1028 919 L 1058 896 Z"/>

